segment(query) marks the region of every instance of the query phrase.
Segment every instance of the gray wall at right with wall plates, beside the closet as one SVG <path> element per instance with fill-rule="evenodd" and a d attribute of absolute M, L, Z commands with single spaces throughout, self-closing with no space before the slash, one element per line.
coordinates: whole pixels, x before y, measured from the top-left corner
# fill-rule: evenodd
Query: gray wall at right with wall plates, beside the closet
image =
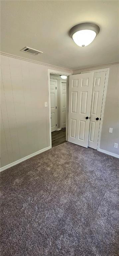
<path fill-rule="evenodd" d="M 73 74 L 102 68 L 109 68 L 109 78 L 100 148 L 119 155 L 119 64 L 79 69 L 73 71 Z M 113 133 L 109 133 L 109 127 L 113 128 Z M 114 148 L 114 142 L 118 143 L 118 148 Z"/>

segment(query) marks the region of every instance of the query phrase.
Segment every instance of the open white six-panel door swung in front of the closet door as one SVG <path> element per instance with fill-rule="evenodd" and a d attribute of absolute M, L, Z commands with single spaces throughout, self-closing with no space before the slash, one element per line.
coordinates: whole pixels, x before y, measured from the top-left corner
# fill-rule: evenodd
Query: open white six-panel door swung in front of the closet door
<path fill-rule="evenodd" d="M 69 76 L 68 141 L 86 148 L 88 147 L 92 84 L 93 73 Z"/>

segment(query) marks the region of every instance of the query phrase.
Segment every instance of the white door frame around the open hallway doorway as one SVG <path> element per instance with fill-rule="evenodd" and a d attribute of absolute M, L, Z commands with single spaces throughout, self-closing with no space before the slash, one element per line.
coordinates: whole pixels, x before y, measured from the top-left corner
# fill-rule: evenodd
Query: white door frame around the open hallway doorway
<path fill-rule="evenodd" d="M 65 72 L 65 71 L 59 71 L 59 70 L 52 70 L 48 69 L 48 107 L 49 107 L 49 135 L 50 135 L 50 148 L 52 148 L 52 137 L 51 137 L 51 95 L 50 95 L 50 74 L 56 74 L 56 75 L 65 75 L 65 76 L 70 76 L 72 75 L 72 72 Z M 66 79 L 67 80 L 67 79 Z M 67 85 L 67 82 L 66 82 Z M 67 87 L 66 87 L 67 89 Z M 67 103 L 67 102 L 66 102 Z M 66 116 L 68 108 L 66 107 Z M 66 120 L 66 138 L 67 138 L 67 120 Z"/>

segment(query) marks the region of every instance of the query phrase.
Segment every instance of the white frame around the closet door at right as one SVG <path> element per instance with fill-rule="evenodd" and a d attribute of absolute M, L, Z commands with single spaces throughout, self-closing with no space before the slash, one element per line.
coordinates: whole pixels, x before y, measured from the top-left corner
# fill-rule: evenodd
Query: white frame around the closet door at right
<path fill-rule="evenodd" d="M 97 142 L 97 151 L 100 149 L 100 139 L 101 139 L 101 131 L 102 131 L 102 124 L 103 124 L 103 117 L 104 117 L 104 107 L 105 107 L 105 101 L 106 101 L 106 92 L 107 92 L 107 85 L 108 85 L 108 77 L 109 77 L 109 68 L 103 68 L 103 69 L 94 69 L 89 71 L 83 71 L 82 73 L 89 73 L 89 72 L 103 72 L 106 71 L 105 76 L 105 85 L 104 85 L 104 92 L 103 92 L 103 99 L 102 99 L 102 109 L 101 109 L 101 120 L 100 120 L 100 126 L 99 126 L 99 134 L 98 134 L 98 142 Z"/>

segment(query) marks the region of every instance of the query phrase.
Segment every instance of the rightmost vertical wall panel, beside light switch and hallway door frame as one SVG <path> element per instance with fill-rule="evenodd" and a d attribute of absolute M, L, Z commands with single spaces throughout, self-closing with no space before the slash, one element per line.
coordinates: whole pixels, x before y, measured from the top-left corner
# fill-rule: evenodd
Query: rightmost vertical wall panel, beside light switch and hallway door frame
<path fill-rule="evenodd" d="M 40 69 L 39 65 L 29 63 L 32 108 L 33 108 L 33 129 L 35 140 L 35 151 L 47 147 L 47 126 L 45 101 L 48 101 L 47 70 L 46 67 Z M 48 108 L 47 108 L 48 111 Z"/>

